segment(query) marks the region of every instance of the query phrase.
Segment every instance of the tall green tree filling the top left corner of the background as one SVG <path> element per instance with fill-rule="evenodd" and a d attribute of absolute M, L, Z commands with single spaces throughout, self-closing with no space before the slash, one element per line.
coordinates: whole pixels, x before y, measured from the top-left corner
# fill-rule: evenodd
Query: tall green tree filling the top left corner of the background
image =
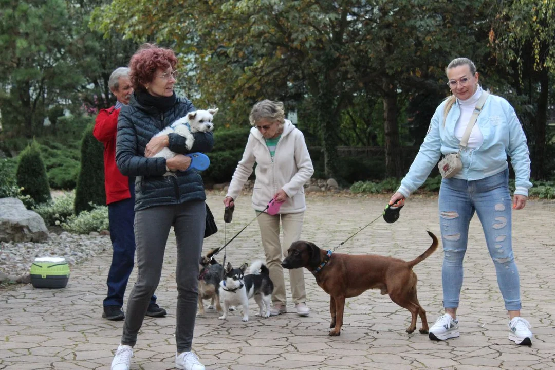
<path fill-rule="evenodd" d="M 0 103 L 6 126 L 31 137 L 49 106 L 82 83 L 68 53 L 71 29 L 63 0 L 0 1 Z"/>

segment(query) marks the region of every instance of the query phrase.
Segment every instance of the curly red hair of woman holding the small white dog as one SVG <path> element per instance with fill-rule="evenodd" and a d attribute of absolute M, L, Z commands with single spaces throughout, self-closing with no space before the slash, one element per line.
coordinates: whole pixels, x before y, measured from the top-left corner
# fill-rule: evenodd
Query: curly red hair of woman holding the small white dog
<path fill-rule="evenodd" d="M 174 68 L 177 58 L 173 50 L 160 48 L 155 44 L 143 44 L 129 61 L 129 79 L 135 91 L 146 90 L 158 68 Z"/>

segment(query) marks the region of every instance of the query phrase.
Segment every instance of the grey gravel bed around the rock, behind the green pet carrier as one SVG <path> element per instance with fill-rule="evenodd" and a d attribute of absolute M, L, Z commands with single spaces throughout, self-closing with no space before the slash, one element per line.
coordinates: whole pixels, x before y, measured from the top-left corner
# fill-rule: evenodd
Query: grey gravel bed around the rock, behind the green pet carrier
<path fill-rule="evenodd" d="M 37 257 L 63 257 L 71 267 L 112 248 L 109 235 L 51 233 L 42 243 L 0 242 L 0 283 L 29 283 L 29 269 Z"/>

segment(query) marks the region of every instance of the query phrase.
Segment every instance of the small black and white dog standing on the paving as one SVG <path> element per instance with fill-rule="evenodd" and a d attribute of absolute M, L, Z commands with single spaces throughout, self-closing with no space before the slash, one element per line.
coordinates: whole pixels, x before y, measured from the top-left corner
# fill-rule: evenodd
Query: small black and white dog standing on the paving
<path fill-rule="evenodd" d="M 224 300 L 224 314 L 218 317 L 225 320 L 231 305 L 243 306 L 243 321 L 249 321 L 249 298 L 254 297 L 260 309 L 256 316 L 270 317 L 270 306 L 274 283 L 270 279 L 270 270 L 263 261 L 255 261 L 245 274 L 247 264 L 233 268 L 231 263 L 225 267 L 224 279 L 220 282 L 220 296 Z M 266 306 L 266 313 L 263 310 Z"/>

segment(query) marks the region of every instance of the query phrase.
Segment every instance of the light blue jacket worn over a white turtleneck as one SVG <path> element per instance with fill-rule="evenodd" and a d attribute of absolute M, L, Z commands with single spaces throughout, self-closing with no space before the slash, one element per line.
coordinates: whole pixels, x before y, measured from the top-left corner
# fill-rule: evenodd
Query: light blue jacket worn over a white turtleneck
<path fill-rule="evenodd" d="M 441 154 L 457 153 L 460 149 L 460 140 L 455 137 L 455 124 L 461 115 L 460 105 L 458 101 L 453 104 L 443 126 L 446 102 L 443 101 L 433 114 L 426 138 L 397 190 L 405 197 L 426 181 Z M 508 154 L 516 174 L 514 194 L 528 196 L 528 189 L 532 187 L 528 145 L 511 104 L 490 94 L 476 125 L 482 131 L 483 143 L 479 148 L 461 151 L 462 170 L 455 178 L 472 181 L 498 174 L 508 167 Z"/>

